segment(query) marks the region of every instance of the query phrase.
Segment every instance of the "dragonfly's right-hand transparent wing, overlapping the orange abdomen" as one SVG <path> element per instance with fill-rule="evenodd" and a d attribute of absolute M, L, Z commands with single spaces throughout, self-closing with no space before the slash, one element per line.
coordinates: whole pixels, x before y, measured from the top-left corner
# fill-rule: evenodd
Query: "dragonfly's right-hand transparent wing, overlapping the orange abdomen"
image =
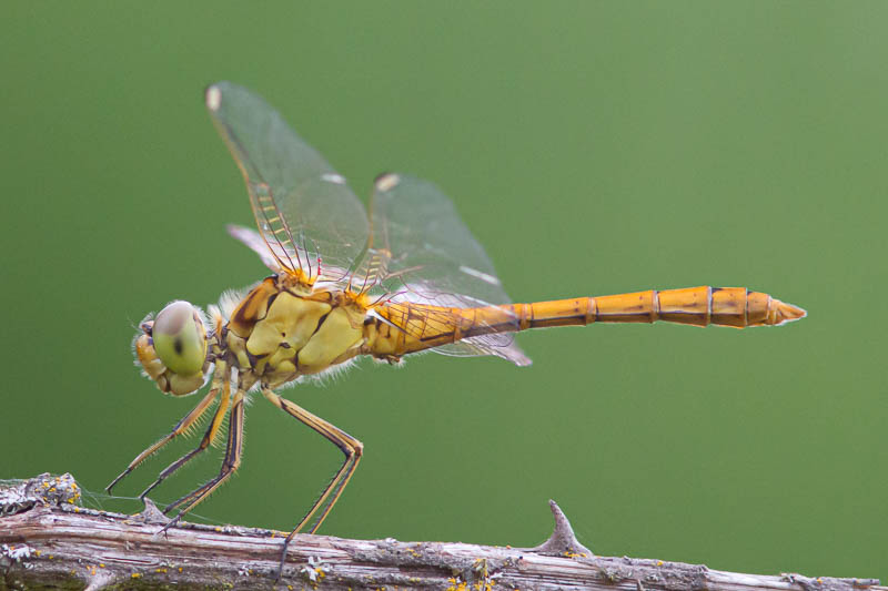
<path fill-rule="evenodd" d="M 389 306 L 405 309 L 412 302 L 460 308 L 511 303 L 493 263 L 451 200 L 434 184 L 407 175 L 384 174 L 376 179 L 371 238 L 354 281 L 382 287 L 389 294 Z M 401 328 L 412 329 L 408 325 Z M 518 328 L 517 318 L 513 328 Z M 433 350 L 460 356 L 496 355 L 517 365 L 529 364 L 514 344 L 512 333 L 475 336 Z"/>

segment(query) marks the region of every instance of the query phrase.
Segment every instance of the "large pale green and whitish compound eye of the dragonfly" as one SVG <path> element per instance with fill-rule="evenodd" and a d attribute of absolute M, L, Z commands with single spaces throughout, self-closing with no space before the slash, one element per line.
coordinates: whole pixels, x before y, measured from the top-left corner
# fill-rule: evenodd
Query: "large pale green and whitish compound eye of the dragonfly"
<path fill-rule="evenodd" d="M 193 376 L 206 359 L 206 333 L 203 323 L 188 302 L 173 302 L 154 319 L 151 332 L 154 350 L 170 371 Z"/>

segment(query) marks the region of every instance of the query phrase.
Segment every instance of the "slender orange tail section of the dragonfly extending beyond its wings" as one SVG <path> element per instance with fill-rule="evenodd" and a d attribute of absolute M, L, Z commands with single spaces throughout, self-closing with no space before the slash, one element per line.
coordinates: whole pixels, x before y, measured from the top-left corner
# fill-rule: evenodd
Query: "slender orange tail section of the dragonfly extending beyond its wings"
<path fill-rule="evenodd" d="M 654 323 L 694 326 L 777 326 L 805 316 L 805 310 L 746 287 L 649 289 L 634 294 L 513 304 L 522 330 L 592 323 Z"/>

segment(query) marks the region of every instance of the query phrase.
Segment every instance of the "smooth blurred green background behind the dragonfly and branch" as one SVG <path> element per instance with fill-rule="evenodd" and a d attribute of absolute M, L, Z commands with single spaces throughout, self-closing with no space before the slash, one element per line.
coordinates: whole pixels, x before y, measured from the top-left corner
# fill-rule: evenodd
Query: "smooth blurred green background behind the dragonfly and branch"
<path fill-rule="evenodd" d="M 532 546 L 554 498 L 601 554 L 888 579 L 885 3 L 2 12 L 0 478 L 101 491 L 195 404 L 141 378 L 130 340 L 265 274 L 223 230 L 251 223 L 202 104 L 230 79 L 362 196 L 389 170 L 443 186 L 515 300 L 706 283 L 810 313 L 544 330 L 518 337 L 525 369 L 427 355 L 285 390 L 366 446 L 323 533 Z M 198 512 L 289 529 L 341 455 L 261 399 L 246 430 Z"/>

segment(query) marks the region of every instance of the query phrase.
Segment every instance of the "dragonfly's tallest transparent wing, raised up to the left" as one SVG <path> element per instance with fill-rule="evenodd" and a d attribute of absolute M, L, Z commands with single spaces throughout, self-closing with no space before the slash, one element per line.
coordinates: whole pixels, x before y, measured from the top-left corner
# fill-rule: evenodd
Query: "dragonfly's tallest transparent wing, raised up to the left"
<path fill-rule="evenodd" d="M 345 179 L 258 94 L 218 82 L 206 108 L 241 169 L 262 240 L 278 265 L 314 279 L 350 268 L 364 248 L 364 206 Z"/>

